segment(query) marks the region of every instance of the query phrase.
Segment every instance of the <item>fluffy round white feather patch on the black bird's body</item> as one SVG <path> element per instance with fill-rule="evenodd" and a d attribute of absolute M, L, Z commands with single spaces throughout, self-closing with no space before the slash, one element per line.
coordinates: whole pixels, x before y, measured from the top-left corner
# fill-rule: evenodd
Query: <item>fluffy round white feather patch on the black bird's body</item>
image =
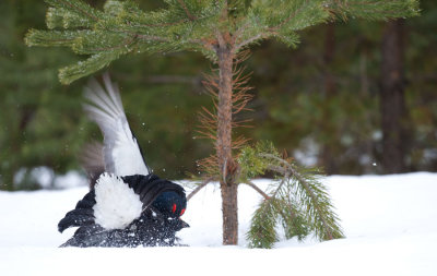
<path fill-rule="evenodd" d="M 141 216 L 143 204 L 121 178 L 103 173 L 95 185 L 95 221 L 105 229 L 123 229 Z"/>

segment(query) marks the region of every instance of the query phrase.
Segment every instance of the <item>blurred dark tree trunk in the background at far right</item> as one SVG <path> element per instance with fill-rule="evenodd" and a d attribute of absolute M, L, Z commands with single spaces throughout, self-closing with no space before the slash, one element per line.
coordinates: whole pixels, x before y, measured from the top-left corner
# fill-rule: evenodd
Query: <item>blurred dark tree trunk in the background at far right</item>
<path fill-rule="evenodd" d="M 404 99 L 403 29 L 403 20 L 388 22 L 382 37 L 379 99 L 385 173 L 399 173 L 406 170 L 409 120 Z"/>

